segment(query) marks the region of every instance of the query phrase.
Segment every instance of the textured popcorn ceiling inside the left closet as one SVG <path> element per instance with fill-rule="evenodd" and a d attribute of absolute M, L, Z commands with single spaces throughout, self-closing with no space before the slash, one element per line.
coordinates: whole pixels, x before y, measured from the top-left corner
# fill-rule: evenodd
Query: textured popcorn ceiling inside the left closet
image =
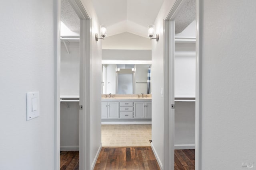
<path fill-rule="evenodd" d="M 61 0 L 60 20 L 70 31 L 79 33 L 79 18 L 67 0 Z"/>

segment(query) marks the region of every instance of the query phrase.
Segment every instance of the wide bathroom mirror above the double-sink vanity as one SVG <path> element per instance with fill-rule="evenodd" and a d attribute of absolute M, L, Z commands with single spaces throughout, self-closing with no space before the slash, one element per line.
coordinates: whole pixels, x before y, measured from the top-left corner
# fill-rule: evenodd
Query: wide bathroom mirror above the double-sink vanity
<path fill-rule="evenodd" d="M 102 64 L 102 94 L 150 94 L 148 72 L 151 64 Z"/>

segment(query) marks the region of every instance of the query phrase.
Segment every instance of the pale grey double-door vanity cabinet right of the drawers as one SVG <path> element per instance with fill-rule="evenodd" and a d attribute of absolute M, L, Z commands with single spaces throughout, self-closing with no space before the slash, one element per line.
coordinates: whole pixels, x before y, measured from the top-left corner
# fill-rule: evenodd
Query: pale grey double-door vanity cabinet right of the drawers
<path fill-rule="evenodd" d="M 151 102 L 134 102 L 134 119 L 151 119 Z"/>

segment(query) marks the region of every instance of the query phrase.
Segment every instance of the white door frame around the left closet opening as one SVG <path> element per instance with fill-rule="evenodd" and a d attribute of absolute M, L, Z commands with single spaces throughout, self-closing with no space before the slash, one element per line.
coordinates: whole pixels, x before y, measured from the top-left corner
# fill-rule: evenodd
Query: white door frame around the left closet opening
<path fill-rule="evenodd" d="M 90 60 L 91 17 L 80 0 L 68 0 L 80 19 L 80 102 L 79 111 L 79 169 L 90 169 Z M 54 1 L 54 170 L 60 169 L 60 8 Z M 86 38 L 89 37 L 89 38 Z"/>

